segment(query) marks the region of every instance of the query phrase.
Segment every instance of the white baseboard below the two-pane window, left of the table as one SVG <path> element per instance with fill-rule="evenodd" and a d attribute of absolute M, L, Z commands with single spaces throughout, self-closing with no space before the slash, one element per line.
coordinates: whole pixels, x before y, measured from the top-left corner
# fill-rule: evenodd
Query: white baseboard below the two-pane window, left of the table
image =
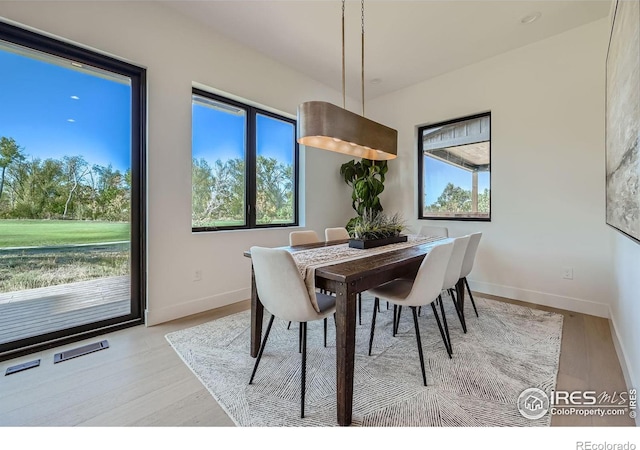
<path fill-rule="evenodd" d="M 158 325 L 159 323 L 241 302 L 248 298 L 251 298 L 251 290 L 249 288 L 243 288 L 237 291 L 224 292 L 210 297 L 190 300 L 165 308 L 147 309 L 145 311 L 145 323 L 147 326 Z"/>

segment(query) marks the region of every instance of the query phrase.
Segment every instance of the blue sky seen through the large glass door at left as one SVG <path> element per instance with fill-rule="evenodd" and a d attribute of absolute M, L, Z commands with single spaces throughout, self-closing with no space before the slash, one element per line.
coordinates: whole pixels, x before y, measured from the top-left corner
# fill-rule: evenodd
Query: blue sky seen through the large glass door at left
<path fill-rule="evenodd" d="M 128 83 L 2 47 L 0 67 L 0 136 L 33 158 L 82 156 L 120 171 L 131 167 Z"/>

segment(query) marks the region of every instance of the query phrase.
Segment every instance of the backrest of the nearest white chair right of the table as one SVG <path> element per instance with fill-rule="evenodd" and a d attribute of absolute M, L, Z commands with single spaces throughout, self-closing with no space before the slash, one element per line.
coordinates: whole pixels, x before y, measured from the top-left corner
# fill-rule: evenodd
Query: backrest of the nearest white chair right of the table
<path fill-rule="evenodd" d="M 405 299 L 407 305 L 428 305 L 440 295 L 452 252 L 453 242 L 447 242 L 434 246 L 427 253 L 420 264 L 411 292 Z"/>

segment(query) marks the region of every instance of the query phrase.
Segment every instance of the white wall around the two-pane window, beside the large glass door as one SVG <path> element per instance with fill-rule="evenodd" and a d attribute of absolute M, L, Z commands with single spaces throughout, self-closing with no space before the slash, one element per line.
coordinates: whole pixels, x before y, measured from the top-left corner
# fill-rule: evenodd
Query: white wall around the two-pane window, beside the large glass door
<path fill-rule="evenodd" d="M 288 244 L 291 229 L 191 233 L 191 87 L 201 83 L 295 114 L 340 93 L 154 2 L 0 2 L 0 17 L 147 68 L 148 324 L 249 298 L 251 245 Z M 302 151 L 307 228 L 351 217 L 342 155 Z M 304 192 L 304 191 L 302 191 Z M 196 269 L 202 281 L 193 282 Z"/>

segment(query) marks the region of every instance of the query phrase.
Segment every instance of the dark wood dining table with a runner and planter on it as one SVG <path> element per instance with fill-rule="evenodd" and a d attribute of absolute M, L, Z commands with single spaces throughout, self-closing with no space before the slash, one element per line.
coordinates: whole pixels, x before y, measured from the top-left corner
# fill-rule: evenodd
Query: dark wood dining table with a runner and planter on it
<path fill-rule="evenodd" d="M 451 239 L 431 241 L 387 253 L 336 262 L 335 264 L 315 269 L 316 288 L 325 289 L 336 295 L 336 392 L 339 425 L 351 425 L 356 344 L 356 300 L 358 293 L 395 278 L 415 275 L 429 250 L 435 245 L 449 241 Z M 346 240 L 342 240 L 280 248 L 293 253 L 346 242 Z M 244 255 L 251 257 L 250 251 L 245 251 Z M 464 311 L 464 287 L 462 282 L 458 282 L 456 291 L 459 304 Z M 260 298 L 256 292 L 252 267 L 251 356 L 254 358 L 257 357 L 260 348 L 263 314 L 264 307 L 260 303 Z"/>

